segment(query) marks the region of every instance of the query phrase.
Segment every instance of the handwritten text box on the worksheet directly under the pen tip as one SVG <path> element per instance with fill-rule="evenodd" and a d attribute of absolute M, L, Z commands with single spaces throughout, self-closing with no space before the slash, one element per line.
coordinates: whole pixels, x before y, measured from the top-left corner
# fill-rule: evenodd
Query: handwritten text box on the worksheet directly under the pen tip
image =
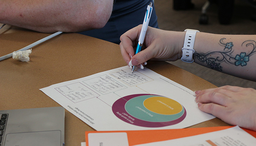
<path fill-rule="evenodd" d="M 130 70 L 121 70 L 115 73 L 110 73 L 110 75 L 114 76 L 115 78 L 119 79 L 120 81 L 124 82 L 129 86 L 140 85 L 149 81 L 153 81 L 153 79 L 149 78 L 142 73 L 135 71 L 131 73 Z"/>

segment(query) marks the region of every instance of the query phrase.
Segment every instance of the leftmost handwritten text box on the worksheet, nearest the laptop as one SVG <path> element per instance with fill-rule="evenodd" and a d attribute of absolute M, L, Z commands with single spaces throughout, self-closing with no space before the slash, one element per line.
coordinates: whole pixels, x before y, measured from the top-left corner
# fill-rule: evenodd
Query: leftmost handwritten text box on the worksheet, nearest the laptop
<path fill-rule="evenodd" d="M 74 103 L 99 96 L 80 82 L 57 87 L 55 90 Z"/>

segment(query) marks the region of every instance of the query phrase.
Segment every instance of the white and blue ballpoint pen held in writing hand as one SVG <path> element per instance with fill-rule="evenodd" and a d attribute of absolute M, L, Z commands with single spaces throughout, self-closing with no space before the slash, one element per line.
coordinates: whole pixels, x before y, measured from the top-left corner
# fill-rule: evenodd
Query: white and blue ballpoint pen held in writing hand
<path fill-rule="evenodd" d="M 143 42 L 144 42 L 144 39 L 145 39 L 146 31 L 148 29 L 148 24 L 149 24 L 149 20 L 150 20 L 150 17 L 151 17 L 152 9 L 153 9 L 152 3 L 150 3 L 147 7 L 147 11 L 146 11 L 146 14 L 145 14 L 145 17 L 144 17 L 144 20 L 143 20 L 142 28 L 141 28 L 141 31 L 140 31 L 140 37 L 139 37 L 139 40 L 138 40 L 138 45 L 137 45 L 135 54 L 137 54 L 141 51 L 141 48 L 142 48 L 142 45 L 143 45 Z M 135 70 L 135 68 L 136 68 L 136 65 L 132 66 L 132 73 Z"/>

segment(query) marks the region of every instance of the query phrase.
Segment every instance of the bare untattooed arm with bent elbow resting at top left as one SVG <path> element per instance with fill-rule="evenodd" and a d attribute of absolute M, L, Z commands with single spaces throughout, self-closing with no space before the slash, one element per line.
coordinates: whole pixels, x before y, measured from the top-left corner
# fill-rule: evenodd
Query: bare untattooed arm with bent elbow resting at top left
<path fill-rule="evenodd" d="M 113 0 L 0 0 L 0 23 L 53 33 L 102 28 Z"/>

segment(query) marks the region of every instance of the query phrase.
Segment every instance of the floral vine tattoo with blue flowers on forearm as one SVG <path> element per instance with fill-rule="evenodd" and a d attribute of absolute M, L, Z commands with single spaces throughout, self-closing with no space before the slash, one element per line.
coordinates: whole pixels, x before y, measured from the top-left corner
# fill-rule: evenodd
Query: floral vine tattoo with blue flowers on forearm
<path fill-rule="evenodd" d="M 233 43 L 225 43 L 225 39 L 226 38 L 220 39 L 219 43 L 224 47 L 223 51 L 213 51 L 209 53 L 195 52 L 193 57 L 217 71 L 222 71 L 223 67 L 221 66 L 221 63 L 223 62 L 236 66 L 246 66 L 250 56 L 256 53 L 256 42 L 254 40 L 243 42 L 241 45 L 243 52 L 234 54 L 232 50 L 232 47 L 234 46 Z"/>

